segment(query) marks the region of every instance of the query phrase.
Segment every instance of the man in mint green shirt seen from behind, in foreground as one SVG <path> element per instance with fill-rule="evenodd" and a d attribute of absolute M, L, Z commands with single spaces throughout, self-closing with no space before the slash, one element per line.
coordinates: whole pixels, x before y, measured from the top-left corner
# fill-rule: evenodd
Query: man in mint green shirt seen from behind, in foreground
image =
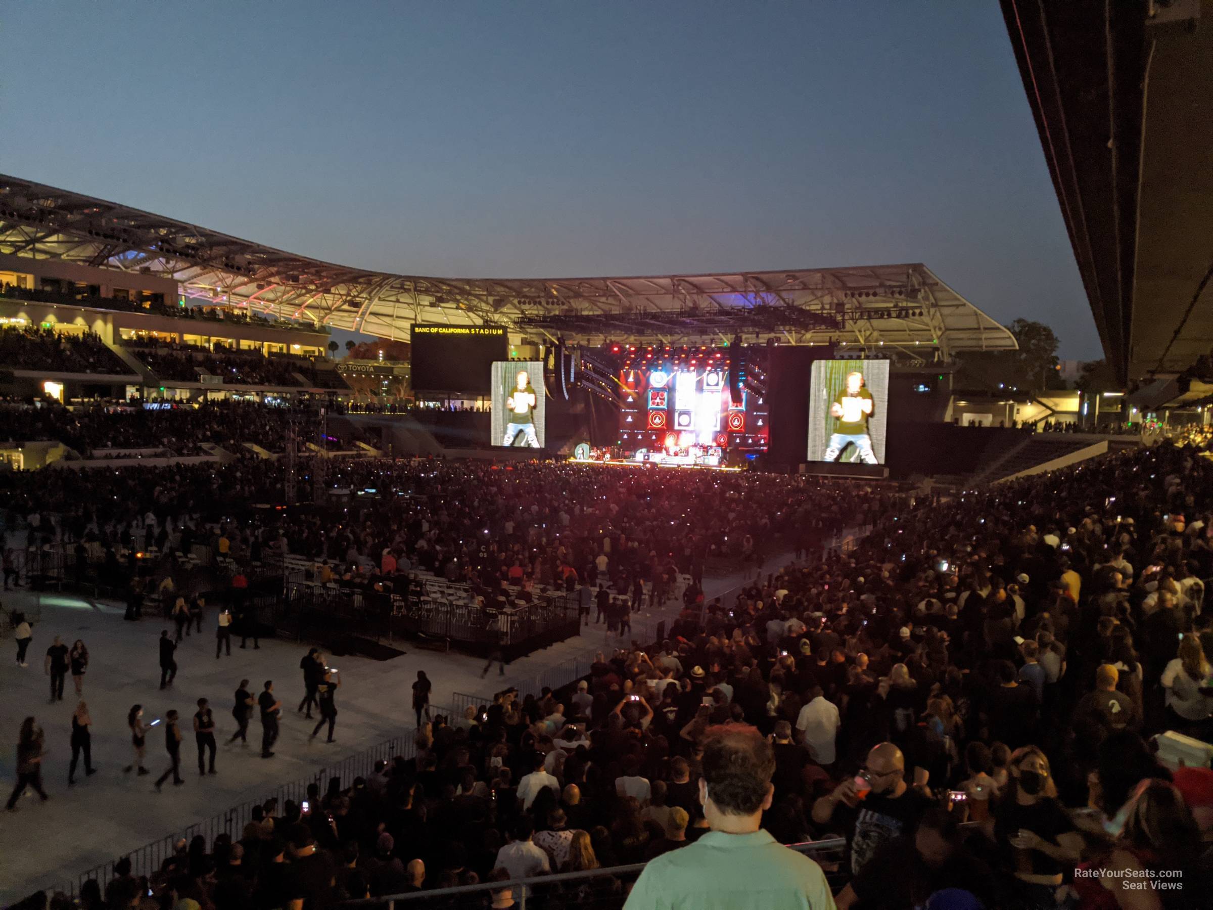
<path fill-rule="evenodd" d="M 711 727 L 699 800 L 712 830 L 644 868 L 625 910 L 835 910 L 821 866 L 762 830 L 775 755 L 753 727 Z"/>

